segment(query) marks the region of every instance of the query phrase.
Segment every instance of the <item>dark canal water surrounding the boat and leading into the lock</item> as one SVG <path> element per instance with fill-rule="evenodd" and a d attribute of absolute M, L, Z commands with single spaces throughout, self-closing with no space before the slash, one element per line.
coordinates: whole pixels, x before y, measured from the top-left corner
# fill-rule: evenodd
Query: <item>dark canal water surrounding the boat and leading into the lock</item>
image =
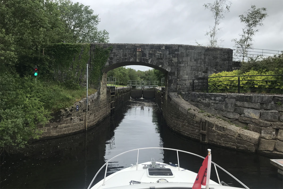
<path fill-rule="evenodd" d="M 270 158 L 199 144 L 174 134 L 160 116 L 152 100 L 131 99 L 98 126 L 66 137 L 41 141 L 26 155 L 1 157 L 1 188 L 87 188 L 98 169 L 113 156 L 134 148 L 176 148 L 206 156 L 229 171 L 250 188 L 282 188 L 283 178 L 270 164 Z M 176 152 L 140 150 L 139 162 L 154 157 L 177 163 Z M 200 158 L 179 153 L 180 166 L 198 172 Z M 109 172 L 136 162 L 136 152 L 123 155 L 109 165 Z M 213 168 L 213 167 L 212 167 Z M 214 171 L 213 171 L 214 172 Z M 217 181 L 212 172 L 211 179 Z M 240 186 L 218 170 L 220 180 Z M 102 173 L 103 174 L 103 173 Z M 100 178 L 103 175 L 99 175 Z M 130 181 L 130 180 L 129 180 Z"/>

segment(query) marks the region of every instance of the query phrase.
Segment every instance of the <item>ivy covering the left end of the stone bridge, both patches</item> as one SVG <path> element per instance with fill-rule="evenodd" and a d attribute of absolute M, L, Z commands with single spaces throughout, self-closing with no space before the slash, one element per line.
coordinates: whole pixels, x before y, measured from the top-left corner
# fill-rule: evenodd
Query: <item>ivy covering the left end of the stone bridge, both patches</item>
<path fill-rule="evenodd" d="M 108 60 L 113 47 L 103 48 L 95 46 L 89 56 L 89 43 L 54 43 L 46 49 L 46 55 L 50 59 L 49 71 L 53 78 L 66 84 L 68 88 L 76 89 L 83 82 L 86 64 L 91 58 L 89 69 L 89 84 L 97 87 L 102 78 L 102 67 Z"/>

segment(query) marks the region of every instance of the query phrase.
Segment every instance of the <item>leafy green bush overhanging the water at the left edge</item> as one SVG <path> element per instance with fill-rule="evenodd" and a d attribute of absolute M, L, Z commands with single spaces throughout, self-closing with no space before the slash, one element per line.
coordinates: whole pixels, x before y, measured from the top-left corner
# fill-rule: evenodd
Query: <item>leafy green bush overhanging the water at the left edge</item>
<path fill-rule="evenodd" d="M 44 109 L 44 102 L 40 101 L 30 78 L 22 79 L 6 72 L 1 74 L 0 83 L 1 152 L 21 150 L 30 137 L 38 138 L 37 124 L 46 123 L 50 112 Z M 31 85 L 32 88 L 25 88 Z"/>

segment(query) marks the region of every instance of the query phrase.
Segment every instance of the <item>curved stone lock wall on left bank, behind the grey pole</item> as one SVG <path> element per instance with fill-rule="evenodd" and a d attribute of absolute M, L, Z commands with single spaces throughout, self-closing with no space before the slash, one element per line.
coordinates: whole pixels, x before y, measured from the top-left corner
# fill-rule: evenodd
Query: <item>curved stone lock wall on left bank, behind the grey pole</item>
<path fill-rule="evenodd" d="M 118 107 L 130 99 L 130 88 L 117 88 L 115 92 Z M 89 129 L 110 115 L 110 89 L 106 90 L 106 77 L 102 78 L 100 91 L 89 95 L 88 101 L 87 128 Z M 79 106 L 78 111 L 76 111 L 77 105 Z M 44 127 L 38 126 L 39 130 L 43 131 L 41 138 L 67 135 L 84 130 L 85 111 L 86 98 L 83 98 L 72 106 L 53 113 L 54 118 L 48 124 L 45 124 Z"/>

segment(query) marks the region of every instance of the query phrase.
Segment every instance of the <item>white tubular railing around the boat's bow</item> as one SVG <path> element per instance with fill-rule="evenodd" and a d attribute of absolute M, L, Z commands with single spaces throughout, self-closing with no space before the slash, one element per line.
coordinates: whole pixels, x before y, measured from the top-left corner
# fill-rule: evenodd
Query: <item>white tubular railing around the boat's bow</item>
<path fill-rule="evenodd" d="M 104 165 L 102 165 L 102 167 L 97 171 L 97 173 L 95 174 L 94 178 L 92 179 L 91 183 L 89 184 L 89 187 L 87 189 L 90 189 L 93 181 L 95 180 L 95 178 L 97 177 L 98 173 L 101 171 L 101 169 L 103 169 L 103 167 L 106 165 L 106 169 L 105 169 L 105 173 L 104 173 L 104 179 L 103 179 L 103 184 L 102 186 L 105 185 L 105 179 L 106 179 L 106 173 L 107 173 L 107 167 L 108 167 L 108 163 L 113 160 L 114 158 L 118 157 L 118 156 L 121 156 L 123 154 L 126 154 L 128 152 L 132 152 L 132 151 L 135 151 L 137 150 L 137 162 L 136 162 L 136 170 L 138 170 L 138 160 L 139 160 L 139 151 L 140 150 L 143 150 L 143 149 L 163 149 L 163 150 L 173 150 L 173 151 L 176 151 L 177 152 L 177 160 L 178 160 L 178 170 L 180 171 L 180 163 L 179 163 L 179 152 L 184 152 L 184 153 L 187 153 L 187 154 L 192 154 L 194 156 L 198 156 L 200 158 L 203 158 L 205 159 L 204 157 L 198 155 L 198 154 L 194 154 L 192 152 L 187 152 L 187 151 L 184 151 L 184 150 L 177 150 L 177 149 L 173 149 L 173 148 L 162 148 L 162 147 L 149 147 L 149 148 L 137 148 L 137 149 L 134 149 L 134 150 L 129 150 L 129 151 L 126 151 L 126 152 L 123 152 L 121 154 L 118 154 L 117 156 L 114 156 L 113 158 L 109 159 L 106 163 L 104 163 Z M 218 172 L 217 172 L 217 169 L 216 167 L 220 168 L 222 171 L 224 171 L 225 173 L 227 173 L 228 175 L 230 175 L 233 179 L 237 180 L 242 186 L 244 186 L 246 189 L 249 189 L 243 182 L 241 182 L 239 179 L 237 179 L 236 177 L 234 177 L 231 173 L 229 173 L 228 171 L 226 171 L 225 169 L 223 169 L 222 167 L 220 167 L 219 165 L 217 165 L 216 163 L 212 162 L 211 163 L 214 165 L 214 168 L 215 168 L 215 172 L 216 172 L 216 175 L 217 175 L 217 179 L 218 179 L 218 183 L 219 185 L 221 185 L 221 182 L 220 182 L 220 179 L 219 179 L 219 175 L 218 175 Z"/>

